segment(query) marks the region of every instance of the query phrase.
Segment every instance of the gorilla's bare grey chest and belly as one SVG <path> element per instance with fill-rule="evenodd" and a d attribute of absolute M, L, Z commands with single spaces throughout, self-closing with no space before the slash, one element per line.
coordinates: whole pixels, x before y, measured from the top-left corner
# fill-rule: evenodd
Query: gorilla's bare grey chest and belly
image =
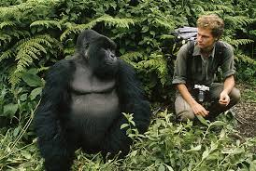
<path fill-rule="evenodd" d="M 101 80 L 86 68 L 71 83 L 71 120 L 76 125 L 111 125 L 120 113 L 115 80 Z M 74 123 L 75 122 L 75 123 Z"/>

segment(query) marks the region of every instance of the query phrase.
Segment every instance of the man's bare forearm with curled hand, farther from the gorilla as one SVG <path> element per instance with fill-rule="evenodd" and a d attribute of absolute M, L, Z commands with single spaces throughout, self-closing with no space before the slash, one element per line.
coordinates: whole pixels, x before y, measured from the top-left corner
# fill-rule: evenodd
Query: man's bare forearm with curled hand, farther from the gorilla
<path fill-rule="evenodd" d="M 235 78 L 234 75 L 228 76 L 224 81 L 223 91 L 220 93 L 219 103 L 223 105 L 228 105 L 230 102 L 229 93 L 232 88 L 235 86 Z"/>

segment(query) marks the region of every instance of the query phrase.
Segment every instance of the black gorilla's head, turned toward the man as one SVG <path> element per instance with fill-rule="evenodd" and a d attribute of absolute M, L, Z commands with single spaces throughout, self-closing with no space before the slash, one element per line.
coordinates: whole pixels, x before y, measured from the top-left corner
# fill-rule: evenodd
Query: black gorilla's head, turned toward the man
<path fill-rule="evenodd" d="M 92 67 L 98 77 L 113 77 L 119 68 L 115 55 L 116 44 L 106 36 L 92 30 L 85 30 L 78 35 L 76 50 Z"/>

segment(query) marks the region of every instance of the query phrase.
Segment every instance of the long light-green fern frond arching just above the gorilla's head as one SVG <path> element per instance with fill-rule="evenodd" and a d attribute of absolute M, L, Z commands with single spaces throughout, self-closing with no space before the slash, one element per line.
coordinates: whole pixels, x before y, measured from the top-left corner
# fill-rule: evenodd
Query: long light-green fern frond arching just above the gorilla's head
<path fill-rule="evenodd" d="M 97 22 L 102 22 L 104 21 L 106 25 L 109 26 L 116 26 L 116 27 L 120 27 L 120 28 L 129 28 L 130 24 L 135 25 L 135 20 L 133 19 L 119 19 L 119 18 L 113 18 L 111 16 L 108 15 L 104 15 L 100 18 L 97 18 L 95 20 L 92 20 L 86 24 L 78 24 L 75 25 L 73 27 L 69 27 L 66 31 L 64 31 L 64 33 L 61 35 L 60 39 L 61 41 L 63 41 L 65 39 L 65 37 L 67 37 L 70 33 L 80 33 L 85 29 L 91 29 L 93 26 L 96 25 Z M 70 25 L 70 23 L 69 23 Z"/>

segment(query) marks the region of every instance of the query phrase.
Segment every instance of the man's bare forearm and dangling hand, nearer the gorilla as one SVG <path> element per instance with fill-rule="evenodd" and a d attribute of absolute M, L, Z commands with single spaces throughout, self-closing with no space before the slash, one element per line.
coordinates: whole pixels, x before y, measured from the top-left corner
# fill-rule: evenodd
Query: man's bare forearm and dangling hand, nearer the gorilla
<path fill-rule="evenodd" d="M 191 93 L 189 92 L 188 88 L 184 84 L 178 84 L 177 86 L 178 92 L 181 94 L 182 98 L 185 99 L 189 105 L 192 107 L 192 112 L 196 115 L 206 116 L 208 112 L 206 109 L 199 104 L 195 99 L 192 98 Z"/>

